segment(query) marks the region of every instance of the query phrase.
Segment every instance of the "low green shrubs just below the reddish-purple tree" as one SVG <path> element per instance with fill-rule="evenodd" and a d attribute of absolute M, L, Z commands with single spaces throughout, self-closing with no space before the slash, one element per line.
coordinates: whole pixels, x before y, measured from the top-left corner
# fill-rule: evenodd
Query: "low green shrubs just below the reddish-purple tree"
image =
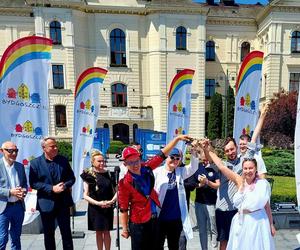
<path fill-rule="evenodd" d="M 294 176 L 294 152 L 292 150 L 263 148 L 263 159 L 268 174 L 277 176 Z"/>

